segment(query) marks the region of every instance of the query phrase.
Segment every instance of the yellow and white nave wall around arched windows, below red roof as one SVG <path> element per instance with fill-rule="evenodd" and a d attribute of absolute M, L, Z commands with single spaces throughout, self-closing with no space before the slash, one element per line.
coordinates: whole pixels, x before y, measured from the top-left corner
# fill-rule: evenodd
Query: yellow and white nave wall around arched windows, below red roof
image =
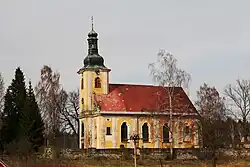
<path fill-rule="evenodd" d="M 123 145 L 125 148 L 133 148 L 133 142 L 128 140 L 127 142 L 121 142 L 121 125 L 123 122 L 127 124 L 127 136 L 128 139 L 132 134 L 138 133 L 142 138 L 142 126 L 144 123 L 149 127 L 149 141 L 139 141 L 140 148 L 169 148 L 170 143 L 165 143 L 162 140 L 162 126 L 168 120 L 167 117 L 150 118 L 150 117 L 136 117 L 136 116 L 99 116 L 97 121 L 97 147 L 99 149 L 120 148 Z M 192 134 L 189 141 L 183 140 L 183 126 L 185 123 L 191 124 Z M 174 148 L 191 148 L 198 147 L 198 134 L 194 130 L 194 120 L 173 120 L 173 147 Z M 110 127 L 110 135 L 107 135 L 107 127 Z"/>

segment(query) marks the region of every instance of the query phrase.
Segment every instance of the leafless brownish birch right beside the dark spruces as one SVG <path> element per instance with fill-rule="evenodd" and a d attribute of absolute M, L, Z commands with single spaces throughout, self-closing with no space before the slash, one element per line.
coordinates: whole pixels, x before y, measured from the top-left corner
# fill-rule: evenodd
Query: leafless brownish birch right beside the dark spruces
<path fill-rule="evenodd" d="M 45 122 L 46 135 L 52 136 L 60 130 L 60 109 L 58 105 L 61 92 L 60 74 L 53 72 L 51 67 L 45 65 L 41 69 L 40 81 L 35 87 L 37 102 Z"/>

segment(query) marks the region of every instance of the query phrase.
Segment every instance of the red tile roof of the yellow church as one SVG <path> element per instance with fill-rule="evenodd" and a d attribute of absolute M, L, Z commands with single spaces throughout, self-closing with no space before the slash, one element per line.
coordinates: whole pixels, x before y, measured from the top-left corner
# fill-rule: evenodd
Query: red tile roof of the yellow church
<path fill-rule="evenodd" d="M 109 84 L 109 94 L 95 95 L 101 111 L 166 111 L 168 89 L 152 85 Z M 196 109 L 181 87 L 174 88 L 173 112 L 195 113 Z"/>

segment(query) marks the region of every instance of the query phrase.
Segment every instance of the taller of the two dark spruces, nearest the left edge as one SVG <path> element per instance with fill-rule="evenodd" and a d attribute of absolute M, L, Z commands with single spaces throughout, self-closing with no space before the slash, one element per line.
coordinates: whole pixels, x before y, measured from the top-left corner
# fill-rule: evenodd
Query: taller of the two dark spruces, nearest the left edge
<path fill-rule="evenodd" d="M 24 133 L 23 128 L 21 128 L 20 118 L 24 113 L 25 102 L 26 88 L 24 75 L 18 67 L 15 71 L 15 78 L 12 80 L 5 94 L 2 128 L 4 144 L 17 142 L 23 136 Z"/>

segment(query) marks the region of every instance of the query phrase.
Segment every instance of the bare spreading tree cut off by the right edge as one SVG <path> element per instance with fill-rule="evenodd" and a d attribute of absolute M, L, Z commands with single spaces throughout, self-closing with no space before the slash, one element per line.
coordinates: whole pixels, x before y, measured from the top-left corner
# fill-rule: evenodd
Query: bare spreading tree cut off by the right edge
<path fill-rule="evenodd" d="M 250 116 L 250 80 L 238 79 L 235 85 L 227 85 L 224 90 L 228 102 L 228 113 L 242 120 L 243 139 L 248 136 L 248 119 Z"/>

